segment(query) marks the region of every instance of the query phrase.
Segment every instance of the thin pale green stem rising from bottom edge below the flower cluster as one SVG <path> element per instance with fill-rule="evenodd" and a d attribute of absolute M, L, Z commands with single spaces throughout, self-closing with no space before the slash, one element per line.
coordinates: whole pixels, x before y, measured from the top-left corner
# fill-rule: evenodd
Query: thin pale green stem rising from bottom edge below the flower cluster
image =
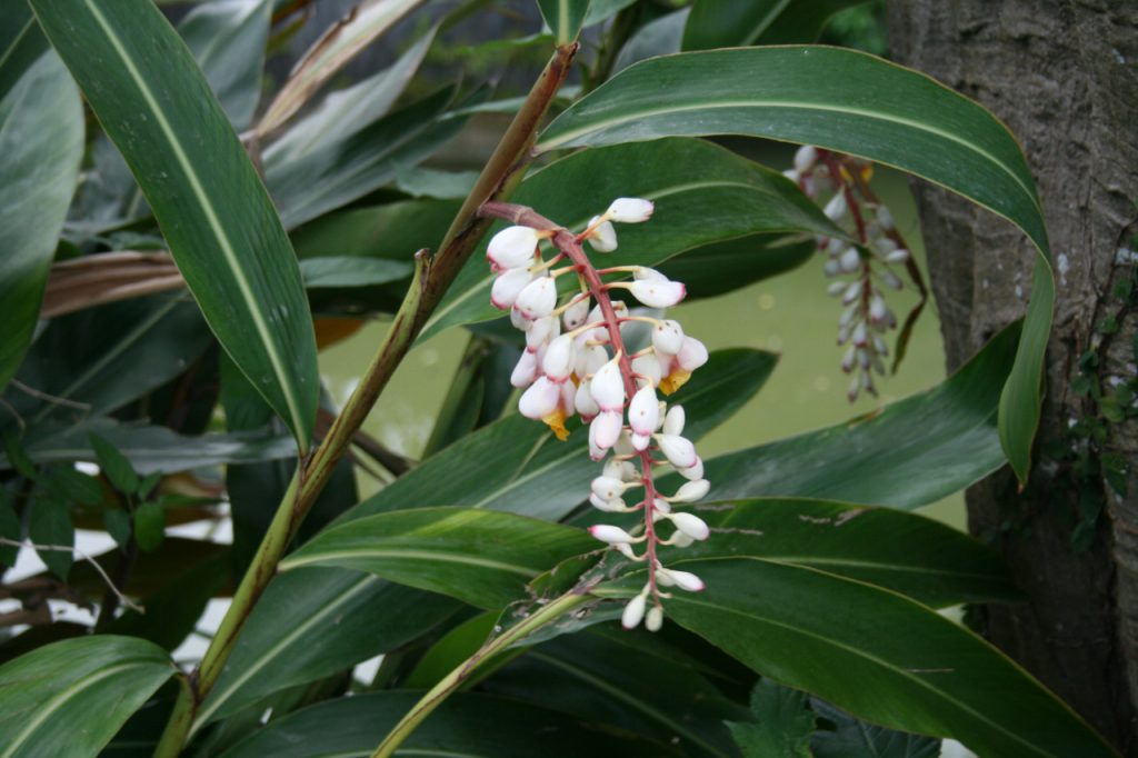
<path fill-rule="evenodd" d="M 447 674 L 430 691 L 409 710 L 399 723 L 384 738 L 384 741 L 371 753 L 371 758 L 390 758 L 395 755 L 403 741 L 428 717 L 443 705 L 443 701 L 451 697 L 478 668 L 495 656 L 504 652 L 513 643 L 525 640 L 537 629 L 552 624 L 574 608 L 588 602 L 587 594 L 578 594 L 577 591 L 569 592 L 542 607 L 536 613 L 521 621 L 517 626 L 506 629 L 501 636 L 490 640 L 483 645 L 478 652 L 460 664 L 454 670 Z"/>

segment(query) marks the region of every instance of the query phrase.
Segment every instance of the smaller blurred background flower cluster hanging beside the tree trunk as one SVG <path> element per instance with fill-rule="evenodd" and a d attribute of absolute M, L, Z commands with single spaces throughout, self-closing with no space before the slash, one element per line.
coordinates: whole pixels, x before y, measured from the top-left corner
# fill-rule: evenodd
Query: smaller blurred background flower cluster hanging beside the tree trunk
<path fill-rule="evenodd" d="M 820 237 L 818 249 L 827 256 L 826 275 L 834 279 L 826 291 L 846 306 L 838 321 L 838 344 L 847 346 L 842 371 L 853 374 L 847 396 L 852 402 L 861 392 L 876 395 L 873 374 L 885 373 L 889 355 L 884 335 L 897 328 L 884 290 L 904 287 L 893 266 L 904 266 L 923 294 L 908 246 L 889 208 L 869 189 L 872 164 L 807 145 L 784 173 L 811 199 L 832 192 L 823 212 L 858 239 L 859 245 L 850 245 Z"/>

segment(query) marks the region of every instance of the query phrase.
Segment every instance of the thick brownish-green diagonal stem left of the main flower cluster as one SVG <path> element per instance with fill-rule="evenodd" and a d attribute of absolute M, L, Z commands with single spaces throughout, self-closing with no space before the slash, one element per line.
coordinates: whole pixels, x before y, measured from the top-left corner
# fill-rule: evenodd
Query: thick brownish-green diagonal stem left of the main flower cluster
<path fill-rule="evenodd" d="M 155 750 L 156 758 L 174 758 L 191 732 L 198 707 L 213 689 L 238 635 L 261 598 L 277 565 L 305 514 L 323 492 L 337 461 L 344 455 L 356 430 L 387 386 L 388 380 L 414 344 L 427 319 L 442 300 L 463 264 L 470 257 L 490 221 L 478 216 L 478 208 L 489 199 L 509 197 L 520 183 L 531 159 L 530 148 L 542 117 L 569 73 L 577 43 L 560 46 L 530 90 L 481 175 L 459 209 L 451 229 L 434 258 L 427 250 L 415 254 L 415 275 L 371 364 L 344 410 L 336 418 L 320 446 L 297 468 L 284 499 L 265 534 L 213 642 L 198 670 L 179 693 L 174 711 Z"/>

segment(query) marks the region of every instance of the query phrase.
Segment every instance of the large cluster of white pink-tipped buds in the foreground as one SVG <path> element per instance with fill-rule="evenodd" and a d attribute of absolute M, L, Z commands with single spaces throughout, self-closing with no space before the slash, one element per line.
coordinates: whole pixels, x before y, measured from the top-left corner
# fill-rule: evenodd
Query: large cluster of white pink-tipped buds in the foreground
<path fill-rule="evenodd" d="M 496 274 L 490 302 L 509 310 L 513 326 L 526 332 L 526 351 L 511 376 L 514 387 L 525 389 L 518 409 L 544 421 L 559 439 L 568 438 L 571 417 L 588 425 L 589 455 L 608 459 L 593 480 L 589 503 L 607 513 L 642 514 L 632 530 L 597 525 L 589 532 L 629 560 L 646 563 L 648 580 L 625 605 L 621 623 L 634 628 L 644 621 L 657 631 L 663 623 L 660 598 L 667 598 L 660 587 L 703 588 L 694 574 L 665 568 L 657 551 L 708 537 L 707 524 L 679 508 L 710 488 L 703 461 L 683 436 L 684 409 L 669 407 L 657 392 L 670 395 L 683 386 L 707 362 L 708 352 L 676 321 L 633 313 L 612 299 L 615 291 L 627 291 L 650 308 L 667 308 L 684 298 L 682 282 L 645 266 L 597 269 L 582 248 L 587 241 L 597 253 L 611 253 L 617 249 L 613 224 L 648 221 L 653 209 L 649 200 L 618 198 L 576 234 L 521 206 L 487 203 L 481 213 L 514 223 L 490 239 L 486 257 Z M 561 263 L 566 265 L 558 267 Z M 575 287 L 559 290 L 558 281 L 567 274 Z M 627 274 L 628 280 L 616 278 Z M 651 324 L 652 338 L 629 354 L 624 330 L 634 322 Z M 663 464 L 687 479 L 671 496 L 655 489 L 653 467 Z M 666 538 L 663 524 L 671 527 Z M 637 553 L 640 545 L 643 552 Z"/>

